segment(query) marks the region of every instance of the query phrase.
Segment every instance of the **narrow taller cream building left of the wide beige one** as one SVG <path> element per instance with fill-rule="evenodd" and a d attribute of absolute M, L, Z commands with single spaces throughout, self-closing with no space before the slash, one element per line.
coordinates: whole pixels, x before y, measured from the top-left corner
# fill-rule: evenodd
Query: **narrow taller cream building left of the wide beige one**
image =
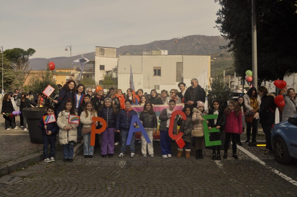
<path fill-rule="evenodd" d="M 96 47 L 95 51 L 95 81 L 101 84 L 103 74 L 111 73 L 113 77 L 118 65 L 116 57 L 116 48 L 113 47 Z"/>

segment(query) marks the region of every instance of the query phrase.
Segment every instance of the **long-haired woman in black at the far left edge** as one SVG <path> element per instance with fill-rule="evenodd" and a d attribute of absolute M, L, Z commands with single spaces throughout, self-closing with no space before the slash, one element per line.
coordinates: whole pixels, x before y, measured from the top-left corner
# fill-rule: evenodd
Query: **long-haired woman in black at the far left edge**
<path fill-rule="evenodd" d="M 12 129 L 17 128 L 15 125 L 15 121 L 13 120 L 13 117 L 5 115 L 6 113 L 12 113 L 13 111 L 14 109 L 11 102 L 10 94 L 6 93 L 3 96 L 1 113 L 3 114 L 3 117 L 5 119 L 5 129 L 7 130 L 9 130 L 9 127 L 11 127 Z"/>

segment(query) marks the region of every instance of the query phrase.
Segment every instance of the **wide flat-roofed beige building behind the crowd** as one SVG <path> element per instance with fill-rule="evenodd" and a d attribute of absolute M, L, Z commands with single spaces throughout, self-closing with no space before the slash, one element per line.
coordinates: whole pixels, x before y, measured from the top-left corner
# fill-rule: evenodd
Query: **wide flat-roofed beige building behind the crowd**
<path fill-rule="evenodd" d="M 129 88 L 130 65 L 135 90 L 141 88 L 147 93 L 150 93 L 151 89 L 156 89 L 158 93 L 163 89 L 179 90 L 177 84 L 181 82 L 182 55 L 120 55 L 118 88 L 124 92 Z M 184 82 L 187 87 L 190 86 L 192 78 L 198 79 L 204 71 L 209 79 L 209 55 L 184 55 Z M 209 80 L 207 83 L 209 84 Z M 203 82 L 199 82 L 199 85 L 203 87 Z"/>

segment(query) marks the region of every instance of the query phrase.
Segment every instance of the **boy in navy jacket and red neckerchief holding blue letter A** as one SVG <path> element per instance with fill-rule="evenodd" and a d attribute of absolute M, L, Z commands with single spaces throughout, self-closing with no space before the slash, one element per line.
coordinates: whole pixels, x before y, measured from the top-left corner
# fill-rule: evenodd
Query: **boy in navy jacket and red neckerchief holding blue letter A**
<path fill-rule="evenodd" d="M 116 132 L 120 132 L 121 130 L 121 153 L 119 154 L 119 158 L 123 157 L 125 155 L 126 151 L 126 143 L 127 138 L 129 134 L 129 129 L 131 125 L 131 120 L 133 115 L 137 115 L 137 113 L 131 108 L 132 101 L 130 99 L 127 99 L 125 101 L 125 108 L 122 109 L 118 115 L 118 118 L 116 120 Z M 136 123 L 133 123 L 133 126 L 136 126 Z M 131 144 L 130 144 L 130 157 L 135 157 L 135 133 L 132 135 Z"/>

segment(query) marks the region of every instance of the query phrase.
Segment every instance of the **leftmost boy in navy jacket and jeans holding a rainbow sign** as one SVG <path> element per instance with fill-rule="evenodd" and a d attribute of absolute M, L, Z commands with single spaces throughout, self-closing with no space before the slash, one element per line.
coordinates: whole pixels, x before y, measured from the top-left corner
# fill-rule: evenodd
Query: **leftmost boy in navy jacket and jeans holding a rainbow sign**
<path fill-rule="evenodd" d="M 51 115 L 55 113 L 55 108 L 52 106 L 48 106 L 46 109 L 45 115 Z M 57 120 L 57 117 L 56 117 Z M 45 162 L 55 161 L 55 149 L 56 149 L 56 136 L 59 127 L 57 122 L 44 124 L 43 118 L 39 120 L 38 124 L 39 128 L 42 130 L 42 138 L 43 138 L 43 158 Z M 50 144 L 50 157 L 48 157 L 48 144 Z"/>

